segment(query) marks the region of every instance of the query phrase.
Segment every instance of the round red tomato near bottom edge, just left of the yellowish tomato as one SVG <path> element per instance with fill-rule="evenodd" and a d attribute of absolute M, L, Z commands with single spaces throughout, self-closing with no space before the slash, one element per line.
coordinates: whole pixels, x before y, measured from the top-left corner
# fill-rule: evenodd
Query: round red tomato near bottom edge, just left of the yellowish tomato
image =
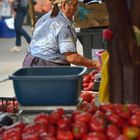
<path fill-rule="evenodd" d="M 110 140 L 114 140 L 115 138 L 118 137 L 118 135 L 120 135 L 120 131 L 116 125 L 110 124 L 107 126 L 106 134 Z"/>

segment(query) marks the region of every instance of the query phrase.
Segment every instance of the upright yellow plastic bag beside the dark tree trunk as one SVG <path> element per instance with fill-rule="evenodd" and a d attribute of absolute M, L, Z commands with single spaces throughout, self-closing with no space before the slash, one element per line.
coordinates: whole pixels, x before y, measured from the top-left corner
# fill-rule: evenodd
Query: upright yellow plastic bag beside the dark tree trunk
<path fill-rule="evenodd" d="M 109 87 L 108 87 L 108 62 L 109 53 L 104 51 L 101 55 L 102 59 L 102 79 L 99 87 L 99 102 L 108 103 L 109 102 Z"/>

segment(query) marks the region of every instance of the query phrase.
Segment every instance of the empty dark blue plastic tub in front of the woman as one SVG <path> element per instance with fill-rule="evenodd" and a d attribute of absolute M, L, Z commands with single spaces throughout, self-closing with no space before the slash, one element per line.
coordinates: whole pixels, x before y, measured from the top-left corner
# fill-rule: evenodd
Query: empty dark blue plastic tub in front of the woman
<path fill-rule="evenodd" d="M 77 104 L 86 70 L 69 66 L 22 68 L 9 78 L 22 106 L 71 106 Z"/>

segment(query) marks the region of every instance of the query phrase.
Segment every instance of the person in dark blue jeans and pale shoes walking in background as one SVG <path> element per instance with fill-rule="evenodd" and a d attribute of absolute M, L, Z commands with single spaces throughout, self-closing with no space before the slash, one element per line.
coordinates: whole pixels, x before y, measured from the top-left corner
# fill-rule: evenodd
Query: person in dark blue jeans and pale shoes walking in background
<path fill-rule="evenodd" d="M 14 10 L 14 27 L 16 32 L 16 42 L 15 47 L 11 48 L 11 52 L 20 52 L 21 51 L 21 37 L 23 36 L 27 43 L 30 43 L 30 35 L 23 29 L 24 18 L 28 12 L 28 0 L 9 0 L 12 4 Z"/>

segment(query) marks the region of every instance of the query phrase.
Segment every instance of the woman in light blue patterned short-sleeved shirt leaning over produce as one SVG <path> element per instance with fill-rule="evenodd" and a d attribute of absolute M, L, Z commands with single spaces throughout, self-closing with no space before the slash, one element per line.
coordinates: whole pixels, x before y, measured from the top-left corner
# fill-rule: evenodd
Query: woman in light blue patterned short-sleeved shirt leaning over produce
<path fill-rule="evenodd" d="M 70 64 L 97 68 L 98 62 L 77 53 L 72 19 L 78 0 L 54 0 L 52 10 L 36 23 L 23 67 L 66 66 Z"/>

